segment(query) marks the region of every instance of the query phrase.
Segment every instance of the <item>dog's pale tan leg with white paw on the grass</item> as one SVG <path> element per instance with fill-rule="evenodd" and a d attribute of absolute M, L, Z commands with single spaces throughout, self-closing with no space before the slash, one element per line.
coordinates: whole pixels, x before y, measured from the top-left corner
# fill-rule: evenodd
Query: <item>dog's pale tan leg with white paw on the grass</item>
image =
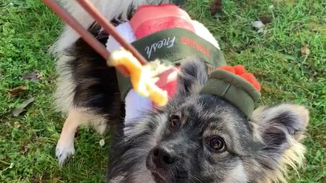
<path fill-rule="evenodd" d="M 75 153 L 74 136 L 79 125 L 87 123 L 87 116 L 79 110 L 72 108 L 69 110 L 68 117 L 63 125 L 60 139 L 56 147 L 56 156 L 59 164 L 63 165 L 68 158 Z"/>

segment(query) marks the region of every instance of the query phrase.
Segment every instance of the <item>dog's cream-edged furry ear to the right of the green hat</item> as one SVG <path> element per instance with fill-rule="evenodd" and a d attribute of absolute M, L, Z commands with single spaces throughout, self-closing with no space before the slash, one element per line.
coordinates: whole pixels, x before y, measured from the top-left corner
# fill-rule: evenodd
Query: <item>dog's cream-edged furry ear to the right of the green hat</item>
<path fill-rule="evenodd" d="M 269 148 L 280 148 L 287 138 L 300 141 L 306 131 L 309 112 L 303 106 L 281 104 L 273 107 L 260 107 L 253 113 L 253 121 L 258 133 Z"/>

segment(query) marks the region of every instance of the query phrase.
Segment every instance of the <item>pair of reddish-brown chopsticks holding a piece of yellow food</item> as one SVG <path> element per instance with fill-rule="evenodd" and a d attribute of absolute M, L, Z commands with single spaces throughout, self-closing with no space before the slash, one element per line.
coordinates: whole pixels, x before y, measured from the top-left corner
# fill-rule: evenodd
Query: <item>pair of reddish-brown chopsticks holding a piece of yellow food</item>
<path fill-rule="evenodd" d="M 135 58 L 139 60 L 142 65 L 147 63 L 147 60 L 128 42 L 126 42 L 123 37 L 116 31 L 115 27 L 108 22 L 104 16 L 92 5 L 91 2 L 87 0 L 76 0 L 80 6 L 82 6 L 96 21 L 99 23 L 103 29 L 110 35 L 112 35 L 121 46 L 126 50 L 130 51 Z M 43 0 L 43 3 L 47 5 L 53 12 L 69 24 L 79 35 L 82 37 L 94 50 L 96 50 L 103 58 L 108 59 L 110 52 L 101 44 L 94 36 L 87 31 L 69 12 L 62 8 L 56 0 Z M 117 67 L 117 70 L 124 76 L 128 76 L 129 73 L 124 67 Z"/>

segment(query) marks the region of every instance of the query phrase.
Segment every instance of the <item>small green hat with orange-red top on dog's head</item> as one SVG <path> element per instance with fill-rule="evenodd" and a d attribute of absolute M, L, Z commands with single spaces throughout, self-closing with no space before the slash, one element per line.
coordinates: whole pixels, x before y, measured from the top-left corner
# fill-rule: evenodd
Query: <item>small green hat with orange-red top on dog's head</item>
<path fill-rule="evenodd" d="M 243 66 L 221 66 L 212 71 L 201 94 L 217 95 L 238 107 L 249 119 L 260 99 L 260 84 Z"/>

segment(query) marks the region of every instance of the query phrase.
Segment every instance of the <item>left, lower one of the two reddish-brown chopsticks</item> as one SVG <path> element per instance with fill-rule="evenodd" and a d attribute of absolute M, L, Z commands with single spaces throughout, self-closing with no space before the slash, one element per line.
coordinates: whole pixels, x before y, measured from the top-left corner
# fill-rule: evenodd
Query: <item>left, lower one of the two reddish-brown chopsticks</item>
<path fill-rule="evenodd" d="M 98 40 L 96 40 L 94 36 L 91 33 L 89 33 L 86 28 L 83 27 L 83 25 L 81 25 L 73 16 L 71 16 L 66 9 L 62 8 L 55 0 L 42 0 L 42 1 L 53 12 L 55 12 L 62 20 L 64 20 L 67 24 L 69 24 L 80 35 L 80 37 L 82 37 L 104 59 L 108 59 L 108 57 L 110 56 L 110 52 L 108 52 L 108 50 L 104 47 L 104 45 L 101 44 Z M 120 35 L 118 35 L 118 37 L 119 36 Z M 116 67 L 116 69 L 124 76 L 126 77 L 129 76 L 128 71 L 124 67 L 118 66 Z"/>

